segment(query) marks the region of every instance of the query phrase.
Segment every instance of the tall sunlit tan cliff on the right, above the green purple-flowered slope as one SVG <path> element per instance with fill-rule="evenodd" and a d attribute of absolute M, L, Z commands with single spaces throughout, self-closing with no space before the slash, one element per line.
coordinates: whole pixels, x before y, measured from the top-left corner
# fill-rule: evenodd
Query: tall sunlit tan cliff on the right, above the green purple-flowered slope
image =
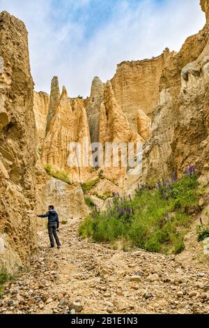
<path fill-rule="evenodd" d="M 208 18 L 208 1 L 201 1 Z M 208 170 L 208 22 L 171 57 L 160 79 L 153 136 L 144 148 L 143 179 L 162 177 L 189 164 Z"/>

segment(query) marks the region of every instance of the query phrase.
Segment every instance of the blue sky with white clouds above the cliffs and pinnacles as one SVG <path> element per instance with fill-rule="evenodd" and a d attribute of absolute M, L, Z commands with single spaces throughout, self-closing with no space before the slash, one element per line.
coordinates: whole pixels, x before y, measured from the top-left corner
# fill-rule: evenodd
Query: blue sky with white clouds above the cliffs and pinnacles
<path fill-rule="evenodd" d="M 121 61 L 179 51 L 206 22 L 199 0 L 0 0 L 29 31 L 36 91 L 54 75 L 68 96 L 89 96 L 93 77 L 110 80 Z"/>

